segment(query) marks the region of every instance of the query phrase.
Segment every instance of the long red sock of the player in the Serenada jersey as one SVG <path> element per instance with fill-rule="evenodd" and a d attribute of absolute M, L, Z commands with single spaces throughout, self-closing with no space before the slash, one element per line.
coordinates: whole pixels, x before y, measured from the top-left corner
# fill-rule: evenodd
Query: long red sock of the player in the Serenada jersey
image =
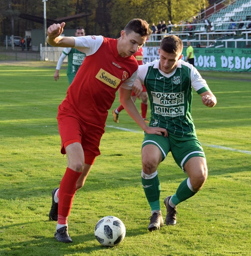
<path fill-rule="evenodd" d="M 66 168 L 65 175 L 59 187 L 58 215 L 66 218 L 70 215 L 72 200 L 76 192 L 76 183 L 81 173 L 82 172 L 75 172 L 68 167 Z"/>

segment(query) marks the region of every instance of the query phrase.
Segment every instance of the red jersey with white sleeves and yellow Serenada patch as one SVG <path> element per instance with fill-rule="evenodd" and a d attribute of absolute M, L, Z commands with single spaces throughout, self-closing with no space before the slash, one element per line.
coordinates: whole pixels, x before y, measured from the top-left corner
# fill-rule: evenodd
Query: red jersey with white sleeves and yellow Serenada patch
<path fill-rule="evenodd" d="M 74 37 L 75 48 L 86 53 L 62 106 L 86 122 L 105 124 L 121 84 L 132 86 L 138 63 L 118 54 L 117 40 L 102 36 Z M 130 88 L 129 87 L 129 88 Z"/>

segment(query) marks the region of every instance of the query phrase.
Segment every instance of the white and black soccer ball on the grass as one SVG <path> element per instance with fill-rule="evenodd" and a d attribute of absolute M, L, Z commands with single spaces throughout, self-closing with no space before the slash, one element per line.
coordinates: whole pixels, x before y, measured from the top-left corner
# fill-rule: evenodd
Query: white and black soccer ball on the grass
<path fill-rule="evenodd" d="M 106 216 L 97 222 L 94 234 L 100 244 L 113 247 L 125 238 L 126 227 L 117 217 Z"/>

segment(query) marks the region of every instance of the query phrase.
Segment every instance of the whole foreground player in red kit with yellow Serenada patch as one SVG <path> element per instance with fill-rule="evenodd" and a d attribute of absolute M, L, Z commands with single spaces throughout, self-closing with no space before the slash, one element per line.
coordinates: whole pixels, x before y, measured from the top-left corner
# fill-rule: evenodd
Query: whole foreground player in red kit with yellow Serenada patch
<path fill-rule="evenodd" d="M 57 220 L 55 238 L 60 242 L 72 242 L 67 224 L 72 200 L 76 190 L 84 185 L 95 157 L 100 155 L 100 139 L 116 91 L 119 89 L 121 104 L 146 133 L 167 136 L 167 131 L 148 127 L 131 99 L 132 88 L 136 95 L 142 92 L 142 87 L 133 86 L 138 63 L 132 55 L 151 35 L 147 22 L 131 20 L 118 39 L 63 37 L 64 26 L 65 22 L 51 25 L 47 30 L 47 43 L 76 48 L 86 57 L 58 107 L 61 153 L 67 154 L 67 168 L 59 189 L 52 191 L 49 219 Z"/>

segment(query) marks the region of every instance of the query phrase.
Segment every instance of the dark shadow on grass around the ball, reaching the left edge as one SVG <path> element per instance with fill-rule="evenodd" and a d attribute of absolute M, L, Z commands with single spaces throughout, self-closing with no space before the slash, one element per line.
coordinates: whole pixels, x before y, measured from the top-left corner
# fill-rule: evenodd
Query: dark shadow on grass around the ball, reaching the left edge
<path fill-rule="evenodd" d="M 31 225 L 31 222 L 23 222 L 18 224 L 11 224 L 1 226 L 1 229 L 8 229 L 15 226 Z M 35 224 L 35 222 L 34 222 Z M 126 232 L 127 237 L 140 236 L 149 233 L 145 227 L 139 227 L 137 229 L 128 230 Z M 98 243 L 95 239 L 94 232 L 89 232 L 82 235 L 71 235 L 72 243 L 62 243 L 56 241 L 53 237 L 53 233 L 50 238 L 43 236 L 41 233 L 37 233 L 32 237 L 29 237 L 25 242 L 4 242 L 1 239 L 2 246 L 0 247 L 0 255 L 18 255 L 18 256 L 56 256 L 56 255 L 75 255 L 77 253 L 91 254 L 93 251 L 106 251 L 117 250 L 117 248 L 123 249 L 123 242 L 116 247 L 105 247 Z M 125 238 L 125 239 L 126 239 Z M 22 240 L 25 237 L 22 238 Z M 121 247 L 122 246 L 122 247 Z"/>

